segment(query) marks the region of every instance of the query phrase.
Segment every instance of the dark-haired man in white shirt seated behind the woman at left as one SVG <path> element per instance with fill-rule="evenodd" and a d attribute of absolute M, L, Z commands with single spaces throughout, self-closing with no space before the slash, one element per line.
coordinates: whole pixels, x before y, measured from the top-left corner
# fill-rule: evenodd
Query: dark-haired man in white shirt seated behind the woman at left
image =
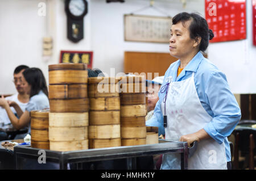
<path fill-rule="evenodd" d="M 11 111 L 13 111 L 14 115 L 18 117 L 16 110 L 12 107 L 13 102 L 17 103 L 20 109 L 24 112 L 27 106 L 28 101 L 30 100 L 30 96 L 24 92 L 22 88 L 22 73 L 24 70 L 28 69 L 27 65 L 19 65 L 14 70 L 14 85 L 17 90 L 17 93 L 11 96 L 7 96 L 5 99 L 8 100 L 9 105 L 11 106 Z M 3 121 L 3 125 L 11 124 L 11 121 L 2 107 L 0 108 L 0 116 Z M 0 132 L 0 140 L 6 140 L 7 134 L 5 132 Z"/>

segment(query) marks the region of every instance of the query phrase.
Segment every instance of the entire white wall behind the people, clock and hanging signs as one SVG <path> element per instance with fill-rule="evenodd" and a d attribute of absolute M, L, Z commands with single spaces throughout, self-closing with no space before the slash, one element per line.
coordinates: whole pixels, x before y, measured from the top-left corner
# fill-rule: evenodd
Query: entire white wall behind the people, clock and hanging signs
<path fill-rule="evenodd" d="M 124 41 L 123 15 L 149 6 L 149 0 L 126 0 L 125 3 L 87 1 L 89 9 L 84 18 L 84 39 L 72 43 L 67 39 L 64 0 L 0 0 L 0 94 L 16 92 L 11 80 L 14 68 L 20 64 L 42 69 L 48 82 L 48 65 L 59 62 L 60 50 L 93 50 L 93 68 L 109 75 L 111 68 L 115 68 L 115 73 L 123 71 L 125 51 L 168 52 L 168 43 Z M 39 2 L 47 3 L 47 16 L 38 15 Z M 227 75 L 234 93 L 256 92 L 256 51 L 251 43 L 250 3 L 247 1 L 247 40 L 212 43 L 208 48 L 209 59 Z M 202 0 L 188 1 L 185 10 L 180 0 L 159 0 L 154 6 L 170 16 L 181 11 L 200 12 L 204 16 Z M 165 16 L 154 9 L 135 14 Z M 53 55 L 47 61 L 42 56 L 43 36 L 53 37 Z"/>

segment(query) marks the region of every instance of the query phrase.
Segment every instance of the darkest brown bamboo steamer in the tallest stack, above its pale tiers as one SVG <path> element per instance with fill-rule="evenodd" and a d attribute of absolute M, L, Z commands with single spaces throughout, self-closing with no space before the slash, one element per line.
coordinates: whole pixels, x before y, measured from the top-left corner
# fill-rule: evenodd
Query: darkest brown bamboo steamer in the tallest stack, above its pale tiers
<path fill-rule="evenodd" d="M 51 112 L 88 112 L 89 99 L 49 99 Z"/>

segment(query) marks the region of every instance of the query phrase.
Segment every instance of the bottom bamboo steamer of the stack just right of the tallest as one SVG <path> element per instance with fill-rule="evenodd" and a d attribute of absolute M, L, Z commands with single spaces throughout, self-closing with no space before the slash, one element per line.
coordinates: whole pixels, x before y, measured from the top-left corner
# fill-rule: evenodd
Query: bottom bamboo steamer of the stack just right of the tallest
<path fill-rule="evenodd" d="M 113 138 L 113 139 L 90 139 L 89 140 L 89 148 L 108 148 L 121 146 L 121 138 Z"/>

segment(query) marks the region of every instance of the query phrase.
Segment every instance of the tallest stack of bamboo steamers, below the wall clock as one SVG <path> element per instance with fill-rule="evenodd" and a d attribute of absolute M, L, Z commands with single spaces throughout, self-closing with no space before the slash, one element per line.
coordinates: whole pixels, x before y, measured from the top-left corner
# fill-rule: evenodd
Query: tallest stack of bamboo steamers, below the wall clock
<path fill-rule="evenodd" d="M 88 149 L 87 93 L 85 64 L 49 65 L 49 149 Z"/>

